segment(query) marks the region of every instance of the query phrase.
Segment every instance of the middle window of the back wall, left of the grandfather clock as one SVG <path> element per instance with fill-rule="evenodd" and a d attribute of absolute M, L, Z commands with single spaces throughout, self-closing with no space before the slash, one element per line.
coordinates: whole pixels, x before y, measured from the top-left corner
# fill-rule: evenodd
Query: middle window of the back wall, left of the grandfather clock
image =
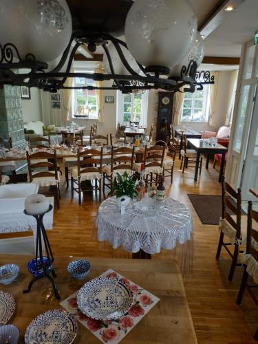
<path fill-rule="evenodd" d="M 118 122 L 147 123 L 148 92 L 122 94 L 118 91 L 117 118 Z"/>

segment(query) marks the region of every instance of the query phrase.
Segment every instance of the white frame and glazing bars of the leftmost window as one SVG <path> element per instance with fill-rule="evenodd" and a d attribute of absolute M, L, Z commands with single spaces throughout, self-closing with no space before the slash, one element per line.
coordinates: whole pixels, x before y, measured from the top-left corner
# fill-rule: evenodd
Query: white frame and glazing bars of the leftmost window
<path fill-rule="evenodd" d="M 89 70 L 89 69 L 80 69 L 80 70 L 75 70 L 75 72 L 83 72 L 83 73 L 87 73 L 87 74 L 93 74 L 94 71 L 93 70 Z M 93 83 L 89 84 L 87 83 L 87 80 L 91 80 L 89 78 L 84 78 L 85 79 L 85 83 L 76 83 L 76 78 L 74 78 L 73 80 L 73 86 L 74 87 L 80 87 L 80 86 L 94 86 L 96 85 L 95 81 L 93 80 Z M 97 100 L 97 94 L 96 96 L 96 116 L 88 116 L 83 114 L 80 115 L 78 114 L 78 103 L 77 103 L 77 92 L 79 89 L 72 89 L 72 118 L 84 118 L 84 119 L 89 119 L 89 120 L 98 120 L 98 100 Z M 89 89 L 81 89 L 83 92 L 86 92 L 87 96 L 85 97 L 86 100 L 86 106 L 89 107 Z M 95 90 L 96 92 L 96 90 Z"/>

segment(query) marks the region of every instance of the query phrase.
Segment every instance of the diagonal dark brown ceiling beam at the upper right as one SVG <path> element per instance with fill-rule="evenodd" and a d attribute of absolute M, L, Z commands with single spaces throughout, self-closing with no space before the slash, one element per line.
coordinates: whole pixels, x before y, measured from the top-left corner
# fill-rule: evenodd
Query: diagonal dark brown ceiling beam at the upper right
<path fill-rule="evenodd" d="M 226 6 L 233 6 L 234 10 L 246 0 L 219 0 L 208 16 L 198 26 L 198 31 L 204 39 L 225 21 L 230 12 L 225 11 Z"/>

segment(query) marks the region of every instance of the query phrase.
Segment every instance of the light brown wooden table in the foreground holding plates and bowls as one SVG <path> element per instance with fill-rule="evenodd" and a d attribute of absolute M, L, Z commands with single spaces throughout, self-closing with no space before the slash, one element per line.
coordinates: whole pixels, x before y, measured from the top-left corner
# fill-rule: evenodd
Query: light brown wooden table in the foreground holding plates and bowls
<path fill-rule="evenodd" d="M 14 297 L 15 310 L 8 323 L 12 323 L 19 328 L 19 343 L 24 343 L 25 330 L 36 316 L 48 310 L 62 309 L 60 300 L 56 300 L 54 297 L 54 292 L 47 279 L 36 281 L 32 290 L 28 294 L 23 294 L 23 290 L 27 288 L 32 278 L 27 268 L 28 261 L 32 258 L 32 256 L 26 255 L 0 255 L 0 265 L 17 264 L 19 266 L 17 279 L 9 285 L 1 285 L 0 287 L 0 290 L 10 292 Z M 71 294 L 78 291 L 85 283 L 98 277 L 110 268 L 124 276 L 127 281 L 128 279 L 133 281 L 133 283 L 136 283 L 160 299 L 147 314 L 144 314 L 140 322 L 126 334 L 121 343 L 197 344 L 182 276 L 173 260 L 153 259 L 142 261 L 140 259 L 80 257 L 80 259 L 87 259 L 89 261 L 91 270 L 84 279 L 74 279 L 68 274 L 67 265 L 76 259 L 78 257 L 54 258 L 55 281 L 61 300 L 65 300 Z M 148 299 L 145 297 L 143 301 L 146 303 Z M 71 303 L 71 306 L 74 306 L 74 303 Z M 138 309 L 142 310 L 139 305 Z M 71 308 L 70 312 L 72 310 Z M 136 317 L 133 317 L 133 321 L 135 319 Z M 91 321 L 93 331 L 98 330 L 98 327 L 93 327 L 93 325 L 98 325 L 98 322 L 95 321 L 94 323 L 93 319 L 89 319 L 89 321 Z M 105 327 L 108 327 L 108 323 Z M 101 331 L 104 331 L 105 327 Z M 114 330 L 114 326 L 112 328 Z M 63 330 L 65 331 L 65 328 Z M 59 331 L 62 331 L 62 328 L 59 328 Z M 108 343 L 118 342 L 119 338 L 116 338 L 116 341 L 108 341 Z M 85 325 L 78 321 L 78 330 L 74 344 L 84 343 L 94 344 L 100 343 L 100 341 Z"/>

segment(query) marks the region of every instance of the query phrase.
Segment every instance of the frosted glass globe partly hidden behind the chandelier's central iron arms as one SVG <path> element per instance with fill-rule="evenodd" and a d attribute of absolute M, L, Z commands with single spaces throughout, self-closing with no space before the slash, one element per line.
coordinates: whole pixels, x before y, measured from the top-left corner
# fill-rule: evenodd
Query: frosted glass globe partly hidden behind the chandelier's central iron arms
<path fill-rule="evenodd" d="M 122 45 L 120 45 L 120 47 L 122 49 L 122 53 L 124 54 L 125 59 L 127 60 L 127 63 L 129 64 L 129 66 L 134 70 L 134 72 L 141 74 L 142 72 L 140 70 L 140 67 L 136 63 L 135 58 L 133 58 L 133 56 L 130 54 L 129 50 L 127 50 L 127 48 L 123 47 Z M 109 54 L 111 56 L 111 61 L 113 63 L 114 72 L 116 74 L 129 75 L 129 72 L 126 69 L 125 65 L 122 63 L 122 61 L 118 55 L 118 52 L 116 51 L 116 47 L 114 46 L 114 44 L 109 43 L 107 48 L 108 48 Z M 104 57 L 103 57 L 103 66 L 104 66 L 107 74 L 111 74 L 109 61 L 108 61 L 107 55 L 105 53 L 104 53 Z"/>

